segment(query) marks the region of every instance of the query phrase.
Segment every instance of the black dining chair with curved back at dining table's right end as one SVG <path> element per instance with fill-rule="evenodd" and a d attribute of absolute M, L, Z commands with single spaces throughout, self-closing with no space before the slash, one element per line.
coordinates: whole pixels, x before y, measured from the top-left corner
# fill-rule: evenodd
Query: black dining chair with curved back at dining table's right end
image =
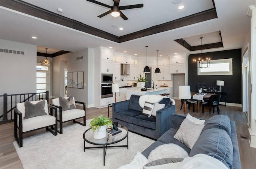
<path fill-rule="evenodd" d="M 211 95 L 208 102 L 202 103 L 202 113 L 204 113 L 204 106 L 207 106 L 209 107 L 209 116 L 211 115 L 211 108 L 212 108 L 212 113 L 214 113 L 215 107 L 218 111 L 218 114 L 220 114 L 219 105 L 220 105 L 220 94 Z"/>

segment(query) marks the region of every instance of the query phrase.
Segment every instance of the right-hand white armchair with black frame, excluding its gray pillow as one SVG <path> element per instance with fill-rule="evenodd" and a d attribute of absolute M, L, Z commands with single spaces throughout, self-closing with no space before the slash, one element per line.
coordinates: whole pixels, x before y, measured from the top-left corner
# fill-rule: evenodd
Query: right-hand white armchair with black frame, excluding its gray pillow
<path fill-rule="evenodd" d="M 65 99 L 68 99 L 69 97 L 64 97 Z M 56 106 L 57 109 L 57 119 L 58 122 L 60 123 L 60 129 L 58 130 L 58 132 L 60 134 L 62 134 L 62 128 L 63 128 L 63 123 L 68 122 L 68 121 L 72 121 L 74 123 L 78 123 L 80 125 L 85 126 L 86 125 L 86 113 L 85 113 L 85 103 L 81 102 L 81 101 L 75 101 L 74 97 L 73 101 L 74 101 L 74 106 L 76 107 L 75 103 L 80 103 L 83 105 L 83 110 L 81 109 L 68 109 L 63 111 L 63 107 L 60 106 L 60 98 L 56 98 L 56 99 L 52 99 L 52 104 L 53 106 Z M 83 123 L 80 123 L 79 121 L 76 121 L 76 119 L 80 119 L 83 118 Z"/>

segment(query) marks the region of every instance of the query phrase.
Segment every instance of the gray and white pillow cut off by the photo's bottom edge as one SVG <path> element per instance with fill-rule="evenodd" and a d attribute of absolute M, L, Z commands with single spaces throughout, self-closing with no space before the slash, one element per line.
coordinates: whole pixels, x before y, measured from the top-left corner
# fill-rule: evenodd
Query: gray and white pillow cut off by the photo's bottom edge
<path fill-rule="evenodd" d="M 158 159 L 152 162 L 147 163 L 143 166 L 143 169 L 162 169 L 164 168 L 163 165 L 170 164 L 170 163 L 178 163 L 182 161 L 183 158 L 164 158 L 164 159 Z M 160 166 L 161 165 L 161 166 Z M 166 166 L 168 169 L 170 169 L 170 166 Z"/>

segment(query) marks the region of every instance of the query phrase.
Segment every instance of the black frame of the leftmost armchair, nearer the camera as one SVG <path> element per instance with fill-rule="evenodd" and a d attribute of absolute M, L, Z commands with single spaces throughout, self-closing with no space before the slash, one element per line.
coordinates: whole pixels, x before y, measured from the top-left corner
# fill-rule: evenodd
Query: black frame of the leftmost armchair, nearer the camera
<path fill-rule="evenodd" d="M 52 105 L 48 105 L 48 108 L 50 108 L 50 115 L 53 115 L 53 110 L 54 110 L 54 116 L 55 116 L 55 124 L 54 125 L 49 125 L 49 126 L 45 126 L 45 127 L 41 127 L 41 128 L 38 128 L 38 129 L 34 129 L 34 130 L 30 130 L 30 131 L 35 131 L 35 130 L 39 130 L 39 129 L 44 129 L 46 128 L 47 131 L 50 131 L 53 135 L 57 135 L 58 132 L 57 132 L 57 107 L 54 107 Z M 17 119 L 17 116 L 19 118 L 19 124 L 17 124 L 18 122 L 18 119 Z M 54 126 L 54 130 L 53 130 L 53 126 Z M 49 129 L 49 127 L 51 127 L 51 129 Z M 19 147 L 23 147 L 23 134 L 24 133 L 28 133 L 30 131 L 26 131 L 26 132 L 23 132 L 22 131 L 22 113 L 18 110 L 18 109 L 14 109 L 14 138 L 15 140 L 17 141 Z M 18 136 L 18 130 L 19 130 L 19 136 Z"/>

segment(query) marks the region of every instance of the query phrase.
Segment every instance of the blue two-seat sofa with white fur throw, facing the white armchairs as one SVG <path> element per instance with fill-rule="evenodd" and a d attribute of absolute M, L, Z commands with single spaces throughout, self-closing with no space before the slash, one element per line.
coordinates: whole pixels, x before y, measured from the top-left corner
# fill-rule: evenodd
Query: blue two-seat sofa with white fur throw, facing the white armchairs
<path fill-rule="evenodd" d="M 175 113 L 175 105 L 170 98 L 165 98 L 158 103 L 165 107 L 156 111 L 156 117 L 142 114 L 139 105 L 140 95 L 131 95 L 129 100 L 113 103 L 113 121 L 127 127 L 129 131 L 145 135 L 152 139 L 158 139 L 171 128 L 171 115 Z"/>

